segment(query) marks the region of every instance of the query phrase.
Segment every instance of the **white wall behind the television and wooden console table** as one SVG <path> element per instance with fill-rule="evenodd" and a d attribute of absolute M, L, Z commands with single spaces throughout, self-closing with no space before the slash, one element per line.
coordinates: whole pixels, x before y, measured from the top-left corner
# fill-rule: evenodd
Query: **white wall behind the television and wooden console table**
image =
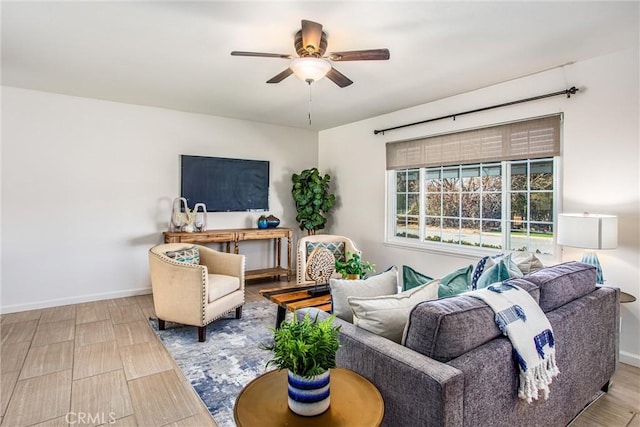
<path fill-rule="evenodd" d="M 317 132 L 2 88 L 3 313 L 150 292 L 147 250 L 179 193 L 179 155 L 270 161 L 270 213 L 297 229 L 290 176 L 317 165 Z M 211 213 L 209 228 L 258 213 Z M 247 268 L 270 241 L 245 242 Z"/>

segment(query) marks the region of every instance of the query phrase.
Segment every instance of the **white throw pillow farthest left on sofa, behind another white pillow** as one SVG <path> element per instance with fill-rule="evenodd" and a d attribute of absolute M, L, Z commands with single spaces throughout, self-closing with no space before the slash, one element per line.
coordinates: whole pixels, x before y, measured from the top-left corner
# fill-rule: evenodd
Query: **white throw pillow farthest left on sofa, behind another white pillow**
<path fill-rule="evenodd" d="M 384 273 L 360 280 L 331 278 L 329 279 L 329 287 L 331 288 L 333 314 L 342 320 L 353 323 L 353 313 L 348 298 L 397 294 L 398 267 L 393 266 Z"/>

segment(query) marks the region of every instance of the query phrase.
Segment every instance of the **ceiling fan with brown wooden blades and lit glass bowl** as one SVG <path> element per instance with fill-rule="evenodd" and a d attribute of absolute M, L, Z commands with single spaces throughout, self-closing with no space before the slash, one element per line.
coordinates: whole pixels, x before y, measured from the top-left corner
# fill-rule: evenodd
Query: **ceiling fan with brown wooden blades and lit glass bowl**
<path fill-rule="evenodd" d="M 336 70 L 329 61 L 371 61 L 389 59 L 389 49 L 330 52 L 325 56 L 325 52 L 327 50 L 327 34 L 322 31 L 322 24 L 304 19 L 302 20 L 302 29 L 295 35 L 294 46 L 299 56 L 298 58 L 288 54 L 243 52 L 235 50 L 231 52 L 231 55 L 293 59 L 287 69 L 267 80 L 267 83 L 280 83 L 291 74 L 295 74 L 301 80 L 311 84 L 326 75 L 329 80 L 340 87 L 349 86 L 353 82 L 340 71 Z"/>

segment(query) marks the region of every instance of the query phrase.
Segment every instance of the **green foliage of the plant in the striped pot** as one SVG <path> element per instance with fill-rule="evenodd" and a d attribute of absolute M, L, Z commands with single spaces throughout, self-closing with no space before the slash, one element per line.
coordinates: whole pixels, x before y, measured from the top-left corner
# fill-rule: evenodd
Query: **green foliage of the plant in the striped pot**
<path fill-rule="evenodd" d="M 307 313 L 303 320 L 296 316 L 290 322 L 282 322 L 273 331 L 273 343 L 264 346 L 273 352 L 267 367 L 289 369 L 303 377 L 319 375 L 336 367 L 336 352 L 340 347 L 340 326 L 334 326 L 335 315 L 318 320 Z"/>

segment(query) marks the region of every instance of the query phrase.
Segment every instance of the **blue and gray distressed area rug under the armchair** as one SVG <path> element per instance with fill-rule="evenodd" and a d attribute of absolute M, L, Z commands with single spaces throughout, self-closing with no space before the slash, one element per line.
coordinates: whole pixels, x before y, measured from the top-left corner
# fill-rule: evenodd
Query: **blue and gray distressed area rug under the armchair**
<path fill-rule="evenodd" d="M 207 326 L 207 341 L 198 341 L 193 326 L 166 323 L 158 330 L 157 319 L 149 319 L 160 341 L 176 361 L 220 427 L 235 427 L 233 405 L 251 380 L 274 368 L 265 367 L 271 353 L 269 343 L 276 322 L 276 306 L 268 301 L 246 303 L 242 318 L 218 319 Z M 290 315 L 289 315 L 290 316 Z"/>

